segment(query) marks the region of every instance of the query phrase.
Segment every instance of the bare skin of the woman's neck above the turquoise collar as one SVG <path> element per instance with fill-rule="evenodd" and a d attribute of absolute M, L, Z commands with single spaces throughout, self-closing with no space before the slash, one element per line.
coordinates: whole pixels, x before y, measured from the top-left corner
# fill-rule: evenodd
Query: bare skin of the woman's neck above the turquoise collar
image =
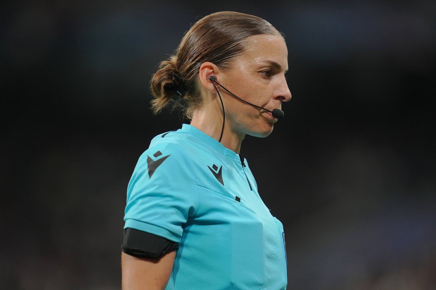
<path fill-rule="evenodd" d="M 190 125 L 219 141 L 223 126 L 222 112 L 221 102 L 216 97 L 214 101 L 205 102 L 194 111 Z M 226 119 L 221 144 L 239 154 L 245 134 L 238 135 L 228 124 L 229 122 Z"/>

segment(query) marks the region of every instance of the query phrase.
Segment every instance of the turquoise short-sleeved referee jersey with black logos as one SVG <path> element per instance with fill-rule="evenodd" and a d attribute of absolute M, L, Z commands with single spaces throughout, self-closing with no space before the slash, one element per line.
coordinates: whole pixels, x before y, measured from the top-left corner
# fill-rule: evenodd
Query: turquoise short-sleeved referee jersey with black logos
<path fill-rule="evenodd" d="M 286 289 L 283 225 L 247 160 L 190 125 L 140 156 L 124 220 L 179 243 L 167 290 Z"/>

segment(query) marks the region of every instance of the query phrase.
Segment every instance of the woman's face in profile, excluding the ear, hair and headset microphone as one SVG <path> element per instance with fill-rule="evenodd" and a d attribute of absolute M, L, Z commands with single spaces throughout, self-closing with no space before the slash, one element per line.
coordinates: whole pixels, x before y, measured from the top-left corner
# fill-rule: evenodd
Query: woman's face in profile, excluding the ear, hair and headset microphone
<path fill-rule="evenodd" d="M 288 49 L 281 36 L 254 35 L 246 40 L 245 51 L 222 74 L 220 83 L 240 98 L 270 111 L 281 109 L 291 99 L 286 83 Z M 224 90 L 226 127 L 243 138 L 246 134 L 266 137 L 278 120 L 271 113 L 248 105 Z M 224 97 L 224 95 L 226 97 Z"/>

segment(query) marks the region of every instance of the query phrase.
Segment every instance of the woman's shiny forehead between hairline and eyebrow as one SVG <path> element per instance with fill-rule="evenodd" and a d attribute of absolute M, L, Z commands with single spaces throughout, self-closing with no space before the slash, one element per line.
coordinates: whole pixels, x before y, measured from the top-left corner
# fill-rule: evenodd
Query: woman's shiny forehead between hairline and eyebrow
<path fill-rule="evenodd" d="M 285 70 L 288 68 L 288 48 L 282 36 L 253 35 L 245 40 L 244 45 L 245 50 L 236 57 L 236 61 L 242 61 L 246 65 L 275 62 Z"/>

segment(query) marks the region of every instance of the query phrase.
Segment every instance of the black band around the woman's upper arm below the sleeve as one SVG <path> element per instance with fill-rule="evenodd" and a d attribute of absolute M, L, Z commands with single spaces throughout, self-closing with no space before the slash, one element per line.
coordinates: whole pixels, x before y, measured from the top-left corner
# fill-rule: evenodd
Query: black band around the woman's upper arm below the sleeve
<path fill-rule="evenodd" d="M 132 228 L 124 229 L 121 251 L 127 255 L 137 258 L 159 259 L 178 248 L 178 243 L 166 238 Z"/>

